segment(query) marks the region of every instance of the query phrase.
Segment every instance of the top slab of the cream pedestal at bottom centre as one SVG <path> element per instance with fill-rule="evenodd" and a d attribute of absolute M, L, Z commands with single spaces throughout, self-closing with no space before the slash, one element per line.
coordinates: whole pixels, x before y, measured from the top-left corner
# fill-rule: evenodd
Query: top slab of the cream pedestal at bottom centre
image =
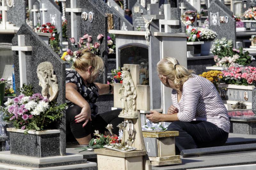
<path fill-rule="evenodd" d="M 94 153 L 99 154 L 99 155 L 108 155 L 108 156 L 115 155 L 115 157 L 121 157 L 121 158 L 128 158 L 128 157 L 146 155 L 146 151 L 118 152 L 118 151 L 108 150 L 108 149 L 105 149 L 105 148 L 95 149 Z"/>

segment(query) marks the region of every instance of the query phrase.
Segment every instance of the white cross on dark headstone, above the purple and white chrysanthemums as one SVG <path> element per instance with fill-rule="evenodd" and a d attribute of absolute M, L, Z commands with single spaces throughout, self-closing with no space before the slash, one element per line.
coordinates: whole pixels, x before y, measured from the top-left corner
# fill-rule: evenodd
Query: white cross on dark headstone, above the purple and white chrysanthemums
<path fill-rule="evenodd" d="M 12 46 L 12 51 L 19 51 L 20 88 L 27 84 L 26 51 L 32 51 L 31 46 L 26 46 L 25 35 L 18 35 L 18 46 Z"/>

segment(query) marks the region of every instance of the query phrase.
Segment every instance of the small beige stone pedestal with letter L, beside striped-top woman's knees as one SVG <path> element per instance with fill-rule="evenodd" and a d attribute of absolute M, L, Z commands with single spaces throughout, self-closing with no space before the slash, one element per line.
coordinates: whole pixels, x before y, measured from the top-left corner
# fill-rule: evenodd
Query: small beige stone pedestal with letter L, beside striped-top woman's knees
<path fill-rule="evenodd" d="M 175 136 L 178 131 L 142 132 L 144 143 L 152 166 L 180 164 L 180 155 L 175 155 Z"/>

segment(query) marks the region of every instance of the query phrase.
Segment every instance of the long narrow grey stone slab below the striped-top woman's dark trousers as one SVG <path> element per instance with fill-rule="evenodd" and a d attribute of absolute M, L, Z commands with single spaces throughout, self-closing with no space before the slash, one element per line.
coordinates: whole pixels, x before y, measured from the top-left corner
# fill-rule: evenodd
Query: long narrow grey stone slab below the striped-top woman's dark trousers
<path fill-rule="evenodd" d="M 240 144 L 240 145 L 229 145 L 229 146 L 217 146 L 209 148 L 197 148 L 197 149 L 187 149 L 182 150 L 180 155 L 183 158 L 193 157 L 193 156 L 203 156 L 203 155 L 213 155 L 222 153 L 232 153 L 232 152 L 246 152 L 256 150 L 256 144 Z"/>

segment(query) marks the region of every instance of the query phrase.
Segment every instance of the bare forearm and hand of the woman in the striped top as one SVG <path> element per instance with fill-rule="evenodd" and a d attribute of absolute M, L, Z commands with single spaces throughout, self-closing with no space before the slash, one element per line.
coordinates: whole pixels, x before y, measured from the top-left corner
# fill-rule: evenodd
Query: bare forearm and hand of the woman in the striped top
<path fill-rule="evenodd" d="M 150 111 L 146 117 L 153 123 L 179 121 L 178 114 L 161 114 L 157 111 Z"/>

